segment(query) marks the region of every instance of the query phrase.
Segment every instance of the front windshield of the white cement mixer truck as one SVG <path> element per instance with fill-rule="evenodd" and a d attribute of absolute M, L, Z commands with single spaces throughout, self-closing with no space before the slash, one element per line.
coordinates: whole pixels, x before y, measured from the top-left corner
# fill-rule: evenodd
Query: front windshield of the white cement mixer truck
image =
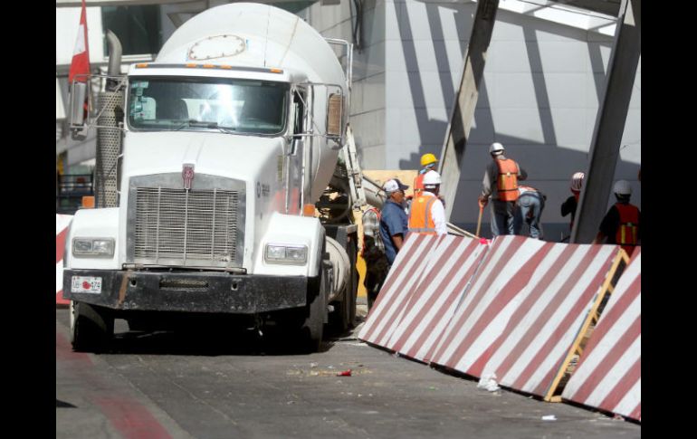
<path fill-rule="evenodd" d="M 138 77 L 129 84 L 129 127 L 158 131 L 280 134 L 285 82 L 226 78 Z"/>

